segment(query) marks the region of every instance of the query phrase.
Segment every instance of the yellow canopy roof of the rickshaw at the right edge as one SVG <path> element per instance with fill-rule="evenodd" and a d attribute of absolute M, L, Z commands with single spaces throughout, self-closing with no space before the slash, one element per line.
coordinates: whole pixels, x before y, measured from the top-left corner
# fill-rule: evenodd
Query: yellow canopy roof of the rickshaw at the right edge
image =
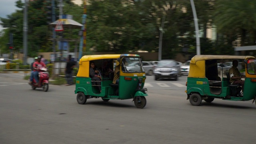
<path fill-rule="evenodd" d="M 217 68 L 217 61 L 216 63 L 212 63 L 211 65 L 208 65 L 206 68 L 206 60 L 225 60 L 225 59 L 226 60 L 227 59 L 248 60 L 248 59 L 255 59 L 255 57 L 254 56 L 228 56 L 228 55 L 196 55 L 193 58 L 191 58 L 188 77 L 205 78 L 206 69 L 210 70 L 209 69 L 210 67 L 215 67 L 215 66 Z"/>

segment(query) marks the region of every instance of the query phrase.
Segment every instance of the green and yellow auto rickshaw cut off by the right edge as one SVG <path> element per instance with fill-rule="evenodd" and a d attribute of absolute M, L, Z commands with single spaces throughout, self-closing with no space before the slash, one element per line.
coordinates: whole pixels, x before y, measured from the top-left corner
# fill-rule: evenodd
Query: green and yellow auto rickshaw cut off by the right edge
<path fill-rule="evenodd" d="M 238 84 L 230 84 L 228 71 L 218 68 L 218 63 L 238 60 L 244 63 L 244 90 Z M 214 98 L 233 101 L 255 100 L 256 60 L 253 56 L 196 55 L 190 61 L 186 82 L 187 100 L 199 106 L 202 100 L 212 102 Z"/>

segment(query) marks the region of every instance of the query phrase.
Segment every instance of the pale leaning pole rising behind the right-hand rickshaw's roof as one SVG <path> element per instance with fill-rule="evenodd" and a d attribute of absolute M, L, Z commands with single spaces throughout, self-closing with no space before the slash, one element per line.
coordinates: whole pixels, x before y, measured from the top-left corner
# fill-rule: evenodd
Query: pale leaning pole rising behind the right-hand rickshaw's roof
<path fill-rule="evenodd" d="M 198 19 L 196 15 L 196 8 L 194 4 L 194 0 L 190 0 L 192 12 L 194 16 L 194 23 L 195 23 L 195 29 L 196 29 L 196 54 L 200 55 L 200 38 L 199 38 L 199 28 L 198 28 Z"/>

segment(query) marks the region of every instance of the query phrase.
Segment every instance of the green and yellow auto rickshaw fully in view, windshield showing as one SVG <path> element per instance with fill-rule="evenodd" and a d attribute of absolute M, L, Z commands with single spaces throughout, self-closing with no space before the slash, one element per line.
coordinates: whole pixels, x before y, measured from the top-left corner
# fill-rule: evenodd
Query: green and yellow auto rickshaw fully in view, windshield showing
<path fill-rule="evenodd" d="M 98 67 L 100 80 L 90 76 L 90 63 Z M 132 67 L 129 67 L 131 63 Z M 103 68 L 108 66 L 108 71 Z M 114 71 L 119 69 L 114 76 Z M 129 69 L 129 70 L 128 70 Z M 113 83 L 114 77 L 119 76 L 119 84 Z M 146 74 L 142 67 L 142 60 L 137 54 L 105 54 L 83 56 L 79 62 L 76 76 L 75 94 L 78 104 L 85 104 L 89 98 L 102 98 L 103 101 L 133 99 L 137 108 L 146 106 L 148 96 L 144 88 Z M 99 89 L 100 87 L 100 89 Z M 101 91 L 100 91 L 101 90 Z"/>

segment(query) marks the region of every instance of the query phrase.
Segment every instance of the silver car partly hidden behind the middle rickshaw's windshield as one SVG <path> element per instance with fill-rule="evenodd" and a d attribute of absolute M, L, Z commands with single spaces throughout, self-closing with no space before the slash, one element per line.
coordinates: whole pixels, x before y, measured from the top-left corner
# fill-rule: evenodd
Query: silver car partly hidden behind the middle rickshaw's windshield
<path fill-rule="evenodd" d="M 139 72 L 139 68 L 140 68 L 139 65 L 140 65 L 139 62 L 131 62 L 126 66 L 126 69 L 129 72 Z M 151 62 L 144 61 L 142 62 L 142 66 L 146 74 L 150 76 L 153 75 L 153 70 L 155 66 Z"/>

